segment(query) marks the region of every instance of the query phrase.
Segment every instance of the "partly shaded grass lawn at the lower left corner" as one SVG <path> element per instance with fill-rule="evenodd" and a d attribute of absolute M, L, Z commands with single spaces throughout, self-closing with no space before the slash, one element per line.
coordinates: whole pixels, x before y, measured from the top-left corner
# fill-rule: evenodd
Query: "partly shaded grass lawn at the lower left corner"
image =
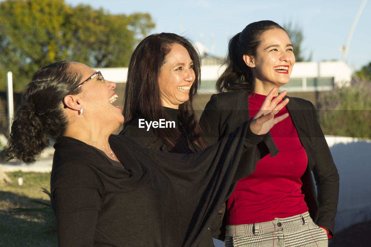
<path fill-rule="evenodd" d="M 40 213 L 9 213 L 14 208 L 41 208 L 29 200 L 49 203 L 42 187 L 49 190 L 50 174 L 38 172 L 8 172 L 12 184 L 3 184 L 0 191 L 0 246 L 50 247 L 57 246 L 55 228 L 48 226 L 48 218 Z M 23 178 L 18 185 L 17 178 Z"/>

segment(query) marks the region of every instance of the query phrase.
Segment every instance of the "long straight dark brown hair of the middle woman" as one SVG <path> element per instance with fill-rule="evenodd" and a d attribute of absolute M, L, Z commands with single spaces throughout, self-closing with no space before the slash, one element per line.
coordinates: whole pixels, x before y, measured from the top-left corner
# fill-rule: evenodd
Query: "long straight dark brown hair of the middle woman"
<path fill-rule="evenodd" d="M 196 76 L 189 92 L 188 101 L 179 106 L 178 118 L 189 134 L 190 141 L 203 149 L 206 147 L 204 135 L 193 109 L 193 99 L 200 84 L 201 60 L 192 43 L 174 33 L 152 34 L 143 39 L 134 50 L 128 68 L 122 110 L 125 116 L 124 126 L 140 115 L 144 116 L 147 121 L 170 120 L 162 106 L 158 75 L 165 63 L 165 56 L 174 44 L 182 45 L 187 49 L 193 60 L 193 70 Z M 181 135 L 177 128 L 158 128 L 156 132 L 158 139 L 167 146 L 168 150 L 174 147 Z"/>

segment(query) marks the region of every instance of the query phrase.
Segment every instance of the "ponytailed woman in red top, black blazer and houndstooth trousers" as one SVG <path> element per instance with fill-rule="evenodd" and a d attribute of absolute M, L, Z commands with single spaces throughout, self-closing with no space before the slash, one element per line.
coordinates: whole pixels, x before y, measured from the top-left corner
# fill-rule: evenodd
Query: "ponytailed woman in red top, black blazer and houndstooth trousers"
<path fill-rule="evenodd" d="M 216 85 L 220 93 L 200 119 L 211 143 L 254 116 L 272 88 L 289 82 L 295 63 L 288 34 L 272 21 L 236 34 L 227 59 Z M 261 159 L 227 201 L 225 246 L 317 247 L 333 236 L 339 175 L 314 106 L 289 99 L 276 116 L 290 116 L 270 130 L 279 154 Z"/>

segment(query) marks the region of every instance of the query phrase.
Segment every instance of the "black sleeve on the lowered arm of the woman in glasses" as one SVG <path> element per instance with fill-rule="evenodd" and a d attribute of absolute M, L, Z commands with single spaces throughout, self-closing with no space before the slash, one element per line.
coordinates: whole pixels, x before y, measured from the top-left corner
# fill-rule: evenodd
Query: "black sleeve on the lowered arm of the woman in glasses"
<path fill-rule="evenodd" d="M 102 202 L 101 182 L 88 166 L 79 163 L 53 167 L 50 192 L 60 247 L 93 246 L 94 243 Z"/>

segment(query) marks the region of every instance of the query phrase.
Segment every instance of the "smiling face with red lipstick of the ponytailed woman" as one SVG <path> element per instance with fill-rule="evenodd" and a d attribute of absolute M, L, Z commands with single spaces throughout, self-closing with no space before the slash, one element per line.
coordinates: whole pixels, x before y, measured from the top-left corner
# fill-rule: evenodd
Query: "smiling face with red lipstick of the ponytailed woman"
<path fill-rule="evenodd" d="M 252 68 L 255 88 L 270 88 L 272 85 L 282 86 L 288 83 L 295 63 L 289 36 L 284 30 L 275 28 L 265 31 L 261 40 L 256 55 L 250 60 L 245 59 L 247 66 Z"/>

